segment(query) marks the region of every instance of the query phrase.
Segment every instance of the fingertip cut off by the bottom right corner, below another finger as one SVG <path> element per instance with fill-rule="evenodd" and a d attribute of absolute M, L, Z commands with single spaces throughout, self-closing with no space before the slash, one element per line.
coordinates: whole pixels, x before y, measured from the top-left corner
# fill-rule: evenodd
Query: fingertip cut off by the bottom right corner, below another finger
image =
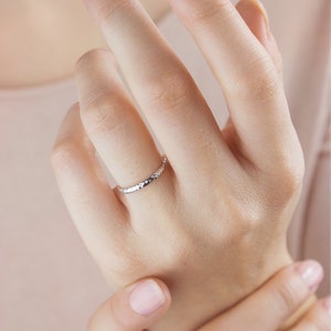
<path fill-rule="evenodd" d="M 317 302 L 291 331 L 330 331 L 331 297 Z"/>

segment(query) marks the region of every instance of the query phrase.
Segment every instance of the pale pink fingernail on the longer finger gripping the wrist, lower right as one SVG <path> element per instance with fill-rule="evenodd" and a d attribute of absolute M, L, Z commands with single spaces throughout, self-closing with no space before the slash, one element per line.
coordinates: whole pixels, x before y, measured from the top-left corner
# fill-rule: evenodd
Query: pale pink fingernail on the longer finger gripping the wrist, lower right
<path fill-rule="evenodd" d="M 302 280 L 311 291 L 317 290 L 319 284 L 323 279 L 323 268 L 314 260 L 307 260 L 298 264 L 296 270 L 300 274 Z"/>

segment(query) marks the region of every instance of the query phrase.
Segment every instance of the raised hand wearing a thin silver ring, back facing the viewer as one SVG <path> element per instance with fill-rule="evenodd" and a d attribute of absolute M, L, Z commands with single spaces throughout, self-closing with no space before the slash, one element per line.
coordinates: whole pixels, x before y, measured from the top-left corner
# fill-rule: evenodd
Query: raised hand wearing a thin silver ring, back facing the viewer
<path fill-rule="evenodd" d="M 226 96 L 229 120 L 221 130 L 137 1 L 86 2 L 138 105 L 109 52 L 83 56 L 79 106 L 60 129 L 52 156 L 55 174 L 109 284 L 161 278 L 173 303 L 157 329 L 173 330 L 175 323 L 191 330 L 290 261 L 286 232 L 303 158 L 279 71 L 229 1 L 171 1 Z M 245 0 L 245 6 L 252 9 L 256 2 Z M 258 28 L 266 49 L 274 45 L 264 23 Z M 169 164 L 156 183 L 122 195 L 109 188 L 95 151 L 122 186 L 160 166 L 138 106 Z"/>

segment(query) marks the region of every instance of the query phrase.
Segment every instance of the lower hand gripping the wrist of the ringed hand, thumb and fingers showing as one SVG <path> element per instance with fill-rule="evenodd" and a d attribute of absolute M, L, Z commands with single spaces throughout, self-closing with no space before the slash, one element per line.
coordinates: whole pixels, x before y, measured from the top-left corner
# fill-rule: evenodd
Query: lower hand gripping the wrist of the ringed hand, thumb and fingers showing
<path fill-rule="evenodd" d="M 321 267 L 313 261 L 287 267 L 244 301 L 197 331 L 278 330 L 284 321 L 317 289 L 307 284 L 310 268 L 322 271 Z M 143 285 L 142 288 L 141 285 Z M 152 290 L 149 290 L 146 285 L 151 286 Z M 142 301 L 139 302 L 139 300 Z M 170 305 L 170 293 L 166 285 L 158 279 L 145 279 L 119 291 L 106 301 L 90 319 L 88 331 L 141 331 L 161 319 Z M 309 312 L 301 317 L 299 323 L 288 330 L 330 330 L 330 305 L 331 298 L 313 303 Z"/>

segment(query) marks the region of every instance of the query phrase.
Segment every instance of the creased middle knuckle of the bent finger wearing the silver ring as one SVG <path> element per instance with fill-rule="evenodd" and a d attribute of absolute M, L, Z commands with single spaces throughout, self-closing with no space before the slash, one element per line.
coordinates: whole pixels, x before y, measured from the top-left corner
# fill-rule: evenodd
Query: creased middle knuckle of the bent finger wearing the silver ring
<path fill-rule="evenodd" d="M 82 109 L 82 120 L 89 135 L 117 131 L 127 120 L 127 103 L 114 93 L 96 96 L 85 109 Z"/>

